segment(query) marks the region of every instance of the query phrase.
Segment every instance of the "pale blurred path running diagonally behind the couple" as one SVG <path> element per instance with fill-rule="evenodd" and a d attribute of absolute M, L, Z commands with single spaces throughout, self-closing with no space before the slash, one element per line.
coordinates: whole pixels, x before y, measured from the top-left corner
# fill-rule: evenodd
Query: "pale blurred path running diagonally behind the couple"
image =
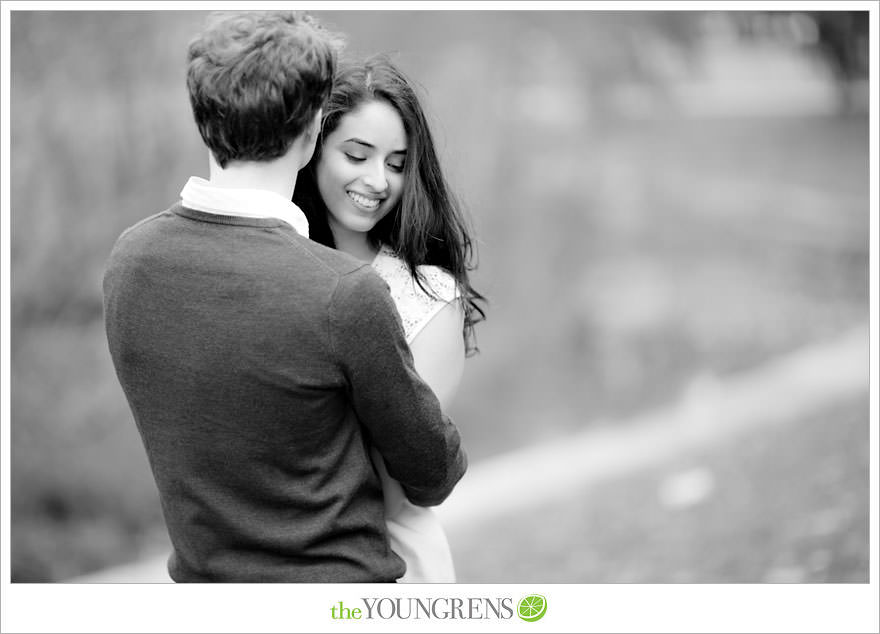
<path fill-rule="evenodd" d="M 472 465 L 438 513 L 450 531 L 472 534 L 481 522 L 525 512 L 536 500 L 564 501 L 585 484 L 867 397 L 868 350 L 868 328 L 861 325 L 737 376 L 695 377 L 671 407 Z M 169 582 L 165 559 L 163 554 L 72 582 Z"/>

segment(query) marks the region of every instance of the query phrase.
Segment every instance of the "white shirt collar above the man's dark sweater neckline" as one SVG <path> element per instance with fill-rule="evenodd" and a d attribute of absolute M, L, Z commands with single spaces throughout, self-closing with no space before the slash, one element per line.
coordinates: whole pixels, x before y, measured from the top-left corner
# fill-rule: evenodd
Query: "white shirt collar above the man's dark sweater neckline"
<path fill-rule="evenodd" d="M 265 189 L 217 187 L 204 178 L 191 176 L 180 199 L 184 207 L 219 216 L 278 218 L 304 238 L 309 237 L 309 221 L 302 209 Z"/>

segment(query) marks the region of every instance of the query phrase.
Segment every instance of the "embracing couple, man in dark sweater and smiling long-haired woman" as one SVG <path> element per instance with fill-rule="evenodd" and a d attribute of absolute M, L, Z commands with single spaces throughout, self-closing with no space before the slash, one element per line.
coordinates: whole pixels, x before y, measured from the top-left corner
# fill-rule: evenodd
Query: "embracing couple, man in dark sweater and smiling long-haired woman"
<path fill-rule="evenodd" d="M 178 582 L 452 582 L 429 507 L 482 296 L 425 116 L 309 16 L 212 17 L 187 87 L 210 178 L 127 229 L 111 356 Z"/>

